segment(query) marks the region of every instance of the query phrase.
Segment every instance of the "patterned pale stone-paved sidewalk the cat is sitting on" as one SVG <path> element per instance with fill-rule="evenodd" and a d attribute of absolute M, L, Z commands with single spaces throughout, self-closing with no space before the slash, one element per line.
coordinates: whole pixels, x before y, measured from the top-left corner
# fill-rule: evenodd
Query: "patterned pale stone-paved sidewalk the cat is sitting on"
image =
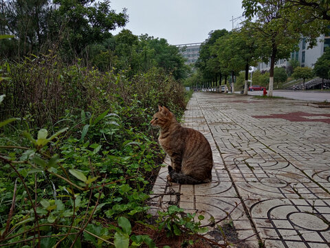
<path fill-rule="evenodd" d="M 187 109 L 184 125 L 211 144 L 212 183 L 169 185 L 164 167 L 152 211 L 176 204 L 199 211 L 205 224 L 232 223 L 243 240 L 234 247 L 330 247 L 329 108 L 195 93 Z M 223 244 L 213 234 L 208 238 Z"/>

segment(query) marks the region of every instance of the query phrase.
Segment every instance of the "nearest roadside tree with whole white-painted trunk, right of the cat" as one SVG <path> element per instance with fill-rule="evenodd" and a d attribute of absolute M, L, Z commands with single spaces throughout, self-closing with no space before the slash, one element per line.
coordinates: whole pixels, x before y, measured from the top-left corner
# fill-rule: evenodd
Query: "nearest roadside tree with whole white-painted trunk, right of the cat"
<path fill-rule="evenodd" d="M 259 44 L 265 45 L 263 61 L 270 59 L 270 84 L 268 95 L 273 95 L 274 65 L 278 59 L 287 59 L 295 50 L 300 34 L 287 22 L 285 1 L 283 0 L 243 0 L 245 17 L 256 16 L 254 28 L 259 30 Z"/>

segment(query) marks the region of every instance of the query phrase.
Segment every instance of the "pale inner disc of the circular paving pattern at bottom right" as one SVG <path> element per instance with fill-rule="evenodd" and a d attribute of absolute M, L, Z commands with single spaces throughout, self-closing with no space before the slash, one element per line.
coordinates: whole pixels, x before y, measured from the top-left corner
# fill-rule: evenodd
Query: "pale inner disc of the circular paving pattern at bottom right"
<path fill-rule="evenodd" d="M 310 231 L 326 231 L 329 228 L 322 219 L 314 214 L 292 213 L 288 215 L 289 220 L 297 227 Z"/>

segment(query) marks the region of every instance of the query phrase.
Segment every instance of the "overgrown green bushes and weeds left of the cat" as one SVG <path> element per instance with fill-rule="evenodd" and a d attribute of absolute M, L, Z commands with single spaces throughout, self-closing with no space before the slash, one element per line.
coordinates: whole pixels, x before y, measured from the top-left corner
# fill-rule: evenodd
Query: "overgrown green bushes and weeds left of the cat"
<path fill-rule="evenodd" d="M 157 105 L 180 118 L 183 87 L 161 69 L 129 79 L 56 54 L 7 63 L 0 76 L 1 244 L 155 247 L 129 227 L 146 218 L 164 158 L 149 121 Z"/>

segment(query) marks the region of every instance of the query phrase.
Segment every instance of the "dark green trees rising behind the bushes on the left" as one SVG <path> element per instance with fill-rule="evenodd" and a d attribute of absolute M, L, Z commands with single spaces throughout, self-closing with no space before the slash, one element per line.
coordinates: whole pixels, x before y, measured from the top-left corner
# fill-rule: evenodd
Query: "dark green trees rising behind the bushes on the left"
<path fill-rule="evenodd" d="M 110 6 L 109 0 L 0 0 L 0 34 L 14 35 L 0 41 L 0 56 L 20 61 L 55 50 L 66 63 L 80 60 L 104 72 L 129 70 L 133 76 L 158 67 L 175 79 L 187 76 L 185 59 L 166 39 L 137 37 L 129 30 L 113 36 L 129 16 Z"/>

